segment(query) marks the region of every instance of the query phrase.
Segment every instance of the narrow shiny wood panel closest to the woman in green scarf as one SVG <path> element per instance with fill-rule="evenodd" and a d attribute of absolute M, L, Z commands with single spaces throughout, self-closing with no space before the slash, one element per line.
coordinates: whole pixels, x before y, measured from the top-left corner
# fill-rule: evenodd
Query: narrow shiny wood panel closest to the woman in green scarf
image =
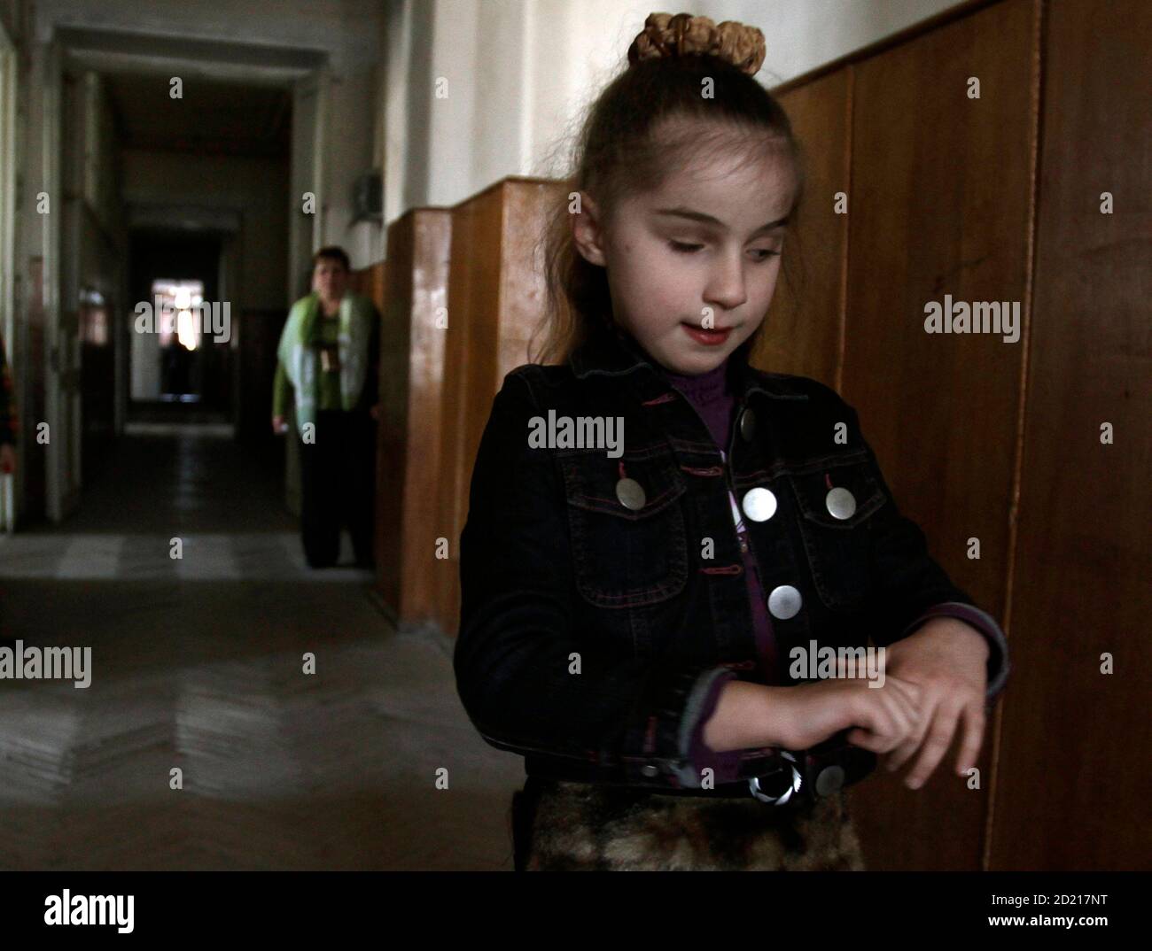
<path fill-rule="evenodd" d="M 417 208 L 388 229 L 377 280 L 380 406 L 377 467 L 377 586 L 400 629 L 435 615 L 444 355 L 435 326 L 448 292 L 452 213 Z M 386 291 L 385 291 L 386 288 Z"/>

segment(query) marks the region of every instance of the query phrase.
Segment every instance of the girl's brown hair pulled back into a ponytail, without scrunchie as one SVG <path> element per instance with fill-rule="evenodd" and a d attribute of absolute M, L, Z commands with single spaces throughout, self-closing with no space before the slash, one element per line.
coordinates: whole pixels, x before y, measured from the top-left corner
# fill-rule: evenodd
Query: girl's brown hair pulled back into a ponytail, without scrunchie
<path fill-rule="evenodd" d="M 712 98 L 703 94 L 712 83 Z M 675 169 L 697 159 L 736 152 L 745 161 L 782 154 L 795 174 L 788 212 L 795 222 L 804 190 L 804 162 L 783 108 L 756 79 L 711 54 L 643 59 L 630 64 L 592 104 L 575 144 L 571 172 L 544 236 L 547 286 L 544 345 L 532 363 L 564 363 L 597 325 L 619 328 L 612 313 L 607 272 L 576 249 L 569 198 L 586 192 L 597 203 L 601 226 L 611 222 L 620 200 L 654 190 Z M 781 261 L 791 287 L 789 259 Z M 752 351 L 764 321 L 738 348 Z M 536 333 L 532 335 L 533 340 Z"/>

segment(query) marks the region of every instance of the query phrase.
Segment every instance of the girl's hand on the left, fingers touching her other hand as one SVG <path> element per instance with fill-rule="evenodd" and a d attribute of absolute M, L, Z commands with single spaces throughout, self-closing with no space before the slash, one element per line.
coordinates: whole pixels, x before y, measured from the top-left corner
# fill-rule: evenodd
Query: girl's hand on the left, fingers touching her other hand
<path fill-rule="evenodd" d="M 861 677 L 801 684 L 787 692 L 781 740 L 787 750 L 808 750 L 854 726 L 849 743 L 887 753 L 917 735 L 919 694 L 916 684 L 890 674 L 881 687 Z"/>

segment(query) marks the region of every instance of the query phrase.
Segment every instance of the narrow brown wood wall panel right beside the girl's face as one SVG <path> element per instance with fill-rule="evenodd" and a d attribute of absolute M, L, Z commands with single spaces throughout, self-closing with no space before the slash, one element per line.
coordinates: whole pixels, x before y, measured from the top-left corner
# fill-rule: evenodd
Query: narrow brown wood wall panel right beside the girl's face
<path fill-rule="evenodd" d="M 783 268 L 791 282 L 782 271 L 751 356 L 770 373 L 812 376 L 834 388 L 848 257 L 848 215 L 835 214 L 834 196 L 849 191 L 851 75 L 842 67 L 779 96 L 804 151 L 808 182 L 795 235 L 785 238 Z"/>

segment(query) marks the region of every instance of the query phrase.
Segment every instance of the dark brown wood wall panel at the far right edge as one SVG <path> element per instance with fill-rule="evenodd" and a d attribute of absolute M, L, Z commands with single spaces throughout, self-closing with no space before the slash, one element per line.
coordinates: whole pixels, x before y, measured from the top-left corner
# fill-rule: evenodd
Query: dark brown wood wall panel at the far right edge
<path fill-rule="evenodd" d="M 995 869 L 1152 868 L 1150 48 L 1143 0 L 1046 6 Z"/>

